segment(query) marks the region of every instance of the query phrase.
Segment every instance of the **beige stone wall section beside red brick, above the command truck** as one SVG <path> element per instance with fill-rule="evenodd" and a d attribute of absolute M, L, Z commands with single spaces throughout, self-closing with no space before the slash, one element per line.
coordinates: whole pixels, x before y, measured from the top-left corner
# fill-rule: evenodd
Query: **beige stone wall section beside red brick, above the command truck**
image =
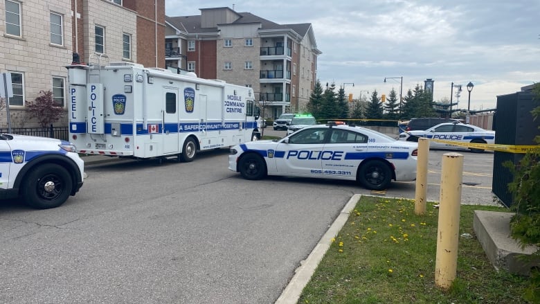
<path fill-rule="evenodd" d="M 105 55 L 110 62 L 129 61 L 136 62 L 137 45 L 137 15 L 133 10 L 116 6 L 106 0 L 89 0 L 84 3 L 82 19 L 84 20 L 84 62 L 96 62 L 96 26 L 105 28 Z M 123 59 L 123 34 L 132 37 L 132 58 Z M 104 57 L 103 57 L 104 58 Z"/>

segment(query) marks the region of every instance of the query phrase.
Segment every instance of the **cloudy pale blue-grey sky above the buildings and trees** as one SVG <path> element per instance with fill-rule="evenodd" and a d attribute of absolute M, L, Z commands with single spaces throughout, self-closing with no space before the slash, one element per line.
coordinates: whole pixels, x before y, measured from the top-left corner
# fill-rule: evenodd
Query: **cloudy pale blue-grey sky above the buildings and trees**
<path fill-rule="evenodd" d="M 228 7 L 277 24 L 313 26 L 317 78 L 345 93 L 403 95 L 431 78 L 433 98 L 493 109 L 497 96 L 540 82 L 539 0 L 165 0 L 170 17 Z M 386 83 L 384 78 L 387 78 Z M 354 84 L 354 86 L 352 85 Z"/>

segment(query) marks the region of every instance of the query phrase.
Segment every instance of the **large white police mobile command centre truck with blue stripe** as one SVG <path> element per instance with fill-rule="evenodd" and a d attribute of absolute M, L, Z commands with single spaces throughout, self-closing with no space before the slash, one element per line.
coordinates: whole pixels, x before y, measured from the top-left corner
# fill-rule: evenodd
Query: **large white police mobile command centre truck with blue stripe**
<path fill-rule="evenodd" d="M 80 153 L 176 157 L 260 139 L 253 89 L 141 64 L 72 64 L 69 138 Z"/>

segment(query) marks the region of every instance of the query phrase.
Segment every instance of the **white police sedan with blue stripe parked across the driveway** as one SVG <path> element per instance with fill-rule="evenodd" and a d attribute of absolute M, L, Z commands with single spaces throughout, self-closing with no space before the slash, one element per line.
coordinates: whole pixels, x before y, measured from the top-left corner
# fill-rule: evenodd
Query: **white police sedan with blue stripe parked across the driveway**
<path fill-rule="evenodd" d="M 267 175 L 348 179 L 383 190 L 392 179 L 416 179 L 417 143 L 354 125 L 312 125 L 274 141 L 231 148 L 228 169 L 245 179 Z"/>

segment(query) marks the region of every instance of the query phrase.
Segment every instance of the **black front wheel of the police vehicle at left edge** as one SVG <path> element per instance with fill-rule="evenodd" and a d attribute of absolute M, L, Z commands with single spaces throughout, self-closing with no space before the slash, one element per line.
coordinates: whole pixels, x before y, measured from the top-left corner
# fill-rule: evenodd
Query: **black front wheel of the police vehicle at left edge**
<path fill-rule="evenodd" d="M 34 208 L 55 208 L 66 202 L 72 189 L 73 181 L 69 172 L 55 163 L 46 163 L 26 176 L 23 199 Z"/>

